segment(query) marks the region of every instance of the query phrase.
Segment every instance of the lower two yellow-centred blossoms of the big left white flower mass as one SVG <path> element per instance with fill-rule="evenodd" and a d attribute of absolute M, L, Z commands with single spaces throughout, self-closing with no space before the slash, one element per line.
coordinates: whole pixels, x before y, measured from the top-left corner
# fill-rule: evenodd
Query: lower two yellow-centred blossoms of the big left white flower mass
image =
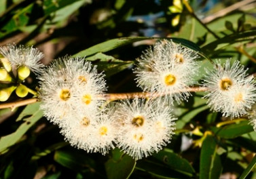
<path fill-rule="evenodd" d="M 86 110 L 67 116 L 66 124 L 60 133 L 72 146 L 88 153 L 100 152 L 103 155 L 114 148 L 117 127 L 105 111 L 88 115 Z"/>

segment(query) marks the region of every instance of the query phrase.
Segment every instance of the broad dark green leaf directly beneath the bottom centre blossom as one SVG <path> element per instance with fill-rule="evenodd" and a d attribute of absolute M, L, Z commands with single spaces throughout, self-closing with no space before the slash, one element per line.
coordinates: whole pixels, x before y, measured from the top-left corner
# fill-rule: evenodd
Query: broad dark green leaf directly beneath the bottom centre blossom
<path fill-rule="evenodd" d="M 112 152 L 112 158 L 105 163 L 107 178 L 129 178 L 132 174 L 136 161 L 132 157 L 122 153 L 118 148 Z"/>

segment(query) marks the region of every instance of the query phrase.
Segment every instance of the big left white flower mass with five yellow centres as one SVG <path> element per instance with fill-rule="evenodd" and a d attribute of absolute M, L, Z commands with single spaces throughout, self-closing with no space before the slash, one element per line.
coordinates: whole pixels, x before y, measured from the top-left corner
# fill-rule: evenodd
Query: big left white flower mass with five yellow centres
<path fill-rule="evenodd" d="M 54 60 L 39 77 L 41 108 L 71 145 L 88 152 L 105 155 L 113 148 L 116 130 L 107 111 L 100 110 L 105 101 L 103 73 L 84 58 Z"/>

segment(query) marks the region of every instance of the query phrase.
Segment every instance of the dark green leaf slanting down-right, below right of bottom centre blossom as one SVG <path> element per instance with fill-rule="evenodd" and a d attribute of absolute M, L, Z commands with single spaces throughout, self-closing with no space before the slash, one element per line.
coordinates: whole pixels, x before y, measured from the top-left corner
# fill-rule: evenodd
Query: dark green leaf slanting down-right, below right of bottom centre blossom
<path fill-rule="evenodd" d="M 196 173 L 194 168 L 190 163 L 181 158 L 179 155 L 170 151 L 170 149 L 165 148 L 164 150 L 153 155 L 156 159 L 166 163 L 172 170 L 175 170 L 181 174 L 185 174 L 189 177 L 194 176 Z"/>

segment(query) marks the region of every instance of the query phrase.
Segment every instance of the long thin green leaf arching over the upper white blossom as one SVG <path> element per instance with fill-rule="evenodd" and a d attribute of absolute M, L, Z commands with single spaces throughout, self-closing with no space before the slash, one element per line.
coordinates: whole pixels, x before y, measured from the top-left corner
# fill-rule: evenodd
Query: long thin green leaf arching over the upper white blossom
<path fill-rule="evenodd" d="M 85 49 L 77 54 L 75 54 L 75 57 L 82 57 L 82 56 L 92 56 L 93 54 L 96 54 L 98 52 L 108 52 L 111 49 L 115 49 L 117 47 L 122 47 L 124 45 L 128 45 L 130 43 L 134 43 L 136 41 L 143 41 L 147 39 L 171 39 L 175 43 L 181 43 L 181 45 L 184 45 L 186 47 L 189 47 L 190 49 L 195 50 L 198 52 L 201 56 L 206 57 L 206 55 L 202 52 L 200 47 L 196 45 L 195 43 L 188 41 L 186 39 L 181 38 L 158 38 L 158 37 L 126 37 L 126 38 L 119 38 L 119 39 L 111 39 L 109 41 L 105 41 L 103 43 L 98 43 L 97 45 L 94 45 L 88 49 Z"/>

